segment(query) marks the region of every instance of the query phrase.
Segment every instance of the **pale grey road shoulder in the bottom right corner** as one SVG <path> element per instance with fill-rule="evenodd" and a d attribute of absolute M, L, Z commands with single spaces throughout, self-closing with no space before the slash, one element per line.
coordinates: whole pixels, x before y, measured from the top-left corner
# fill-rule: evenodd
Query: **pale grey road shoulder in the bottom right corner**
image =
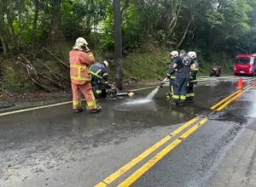
<path fill-rule="evenodd" d="M 256 131 L 253 129 L 255 124 L 256 121 L 253 121 L 241 131 L 204 186 L 255 186 Z"/>

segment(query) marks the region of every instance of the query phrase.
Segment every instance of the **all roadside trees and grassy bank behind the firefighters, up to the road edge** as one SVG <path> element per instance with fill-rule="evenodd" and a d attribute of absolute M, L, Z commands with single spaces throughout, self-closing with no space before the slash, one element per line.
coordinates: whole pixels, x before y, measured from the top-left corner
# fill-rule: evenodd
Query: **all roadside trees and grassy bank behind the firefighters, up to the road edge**
<path fill-rule="evenodd" d="M 200 73 L 213 63 L 232 71 L 236 54 L 256 46 L 256 0 L 121 0 L 125 82 L 166 74 L 170 52 L 193 50 Z M 1 92 L 68 90 L 68 52 L 84 37 L 114 80 L 110 0 L 0 1 Z"/>

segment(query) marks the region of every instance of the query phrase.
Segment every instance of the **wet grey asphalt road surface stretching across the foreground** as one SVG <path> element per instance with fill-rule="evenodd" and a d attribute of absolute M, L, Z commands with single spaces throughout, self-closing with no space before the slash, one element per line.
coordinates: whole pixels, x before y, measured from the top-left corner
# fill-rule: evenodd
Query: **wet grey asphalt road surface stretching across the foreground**
<path fill-rule="evenodd" d="M 150 102 L 154 88 L 101 100 L 95 115 L 58 105 L 0 116 L 0 186 L 256 186 L 256 88 L 236 85 L 205 80 L 183 108 L 165 87 Z"/>

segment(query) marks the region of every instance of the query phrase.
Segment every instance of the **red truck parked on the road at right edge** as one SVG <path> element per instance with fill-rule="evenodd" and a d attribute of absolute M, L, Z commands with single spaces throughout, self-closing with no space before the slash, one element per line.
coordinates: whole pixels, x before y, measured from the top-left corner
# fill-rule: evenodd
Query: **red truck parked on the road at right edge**
<path fill-rule="evenodd" d="M 234 65 L 235 76 L 256 76 L 256 54 L 238 54 Z"/>

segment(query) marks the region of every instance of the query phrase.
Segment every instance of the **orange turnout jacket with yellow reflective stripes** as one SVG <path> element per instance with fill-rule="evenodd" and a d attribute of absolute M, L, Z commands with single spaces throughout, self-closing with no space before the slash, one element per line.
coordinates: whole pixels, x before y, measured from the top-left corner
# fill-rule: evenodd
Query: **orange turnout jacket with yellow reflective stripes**
<path fill-rule="evenodd" d="M 90 82 L 88 67 L 94 64 L 95 58 L 91 52 L 84 53 L 81 50 L 73 49 L 69 53 L 70 78 L 74 84 Z"/>

